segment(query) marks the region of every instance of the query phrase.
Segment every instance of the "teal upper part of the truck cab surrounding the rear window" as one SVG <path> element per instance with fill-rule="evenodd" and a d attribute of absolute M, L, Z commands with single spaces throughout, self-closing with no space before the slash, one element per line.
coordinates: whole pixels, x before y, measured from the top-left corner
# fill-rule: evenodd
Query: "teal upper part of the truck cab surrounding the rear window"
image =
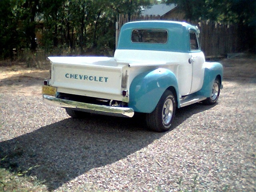
<path fill-rule="evenodd" d="M 133 43 L 131 41 L 134 29 L 163 29 L 168 32 L 166 44 Z M 189 30 L 197 30 L 195 26 L 185 22 L 174 21 L 138 21 L 124 24 L 120 30 L 117 49 L 158 50 L 171 52 L 190 52 Z"/>

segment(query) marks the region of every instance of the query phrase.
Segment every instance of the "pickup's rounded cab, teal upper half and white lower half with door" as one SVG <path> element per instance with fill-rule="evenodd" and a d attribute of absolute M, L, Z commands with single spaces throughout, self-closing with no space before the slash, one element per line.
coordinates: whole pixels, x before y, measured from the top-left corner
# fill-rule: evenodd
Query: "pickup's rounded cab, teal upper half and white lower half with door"
<path fill-rule="evenodd" d="M 164 66 L 175 74 L 180 95 L 188 95 L 202 88 L 204 78 L 198 32 L 185 22 L 130 22 L 121 29 L 114 58 L 130 66 Z"/>

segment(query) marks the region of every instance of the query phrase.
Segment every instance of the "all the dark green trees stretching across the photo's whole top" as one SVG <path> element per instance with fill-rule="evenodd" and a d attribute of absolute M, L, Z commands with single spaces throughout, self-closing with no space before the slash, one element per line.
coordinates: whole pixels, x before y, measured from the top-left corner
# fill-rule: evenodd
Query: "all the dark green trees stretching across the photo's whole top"
<path fill-rule="evenodd" d="M 115 22 L 119 14 L 138 14 L 152 3 L 176 3 L 190 20 L 213 20 L 255 25 L 255 0 L 0 0 L 0 57 L 31 52 L 44 55 L 108 54 L 115 48 Z M 104 51 L 106 50 L 106 51 Z"/>

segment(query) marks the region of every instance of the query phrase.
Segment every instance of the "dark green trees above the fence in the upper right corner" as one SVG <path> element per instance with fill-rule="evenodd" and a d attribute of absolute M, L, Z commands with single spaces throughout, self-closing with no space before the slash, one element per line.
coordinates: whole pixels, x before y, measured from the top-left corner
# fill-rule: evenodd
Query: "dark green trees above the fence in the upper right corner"
<path fill-rule="evenodd" d="M 243 23 L 255 26 L 255 0 L 166 0 L 175 3 L 190 20 Z"/>

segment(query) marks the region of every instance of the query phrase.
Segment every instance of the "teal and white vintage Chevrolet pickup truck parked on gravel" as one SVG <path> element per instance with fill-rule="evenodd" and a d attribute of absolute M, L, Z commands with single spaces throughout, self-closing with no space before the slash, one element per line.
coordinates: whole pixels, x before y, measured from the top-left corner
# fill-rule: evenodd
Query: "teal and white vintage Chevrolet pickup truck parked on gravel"
<path fill-rule="evenodd" d="M 43 100 L 72 118 L 142 113 L 151 130 L 170 130 L 177 108 L 215 104 L 222 88 L 222 65 L 205 61 L 198 36 L 186 22 L 128 22 L 114 57 L 48 57 Z"/>

